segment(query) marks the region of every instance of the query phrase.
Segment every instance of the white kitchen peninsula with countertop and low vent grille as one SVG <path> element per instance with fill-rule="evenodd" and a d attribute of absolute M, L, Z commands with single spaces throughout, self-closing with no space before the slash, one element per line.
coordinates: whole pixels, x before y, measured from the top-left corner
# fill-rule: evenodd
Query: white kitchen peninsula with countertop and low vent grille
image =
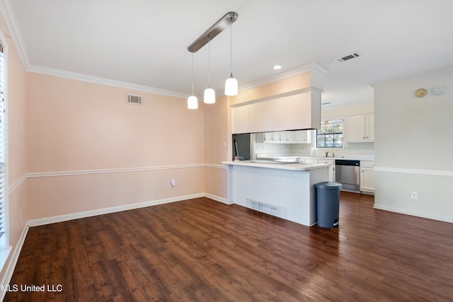
<path fill-rule="evenodd" d="M 294 221 L 316 223 L 316 183 L 328 181 L 328 165 L 224 161 L 235 204 Z"/>

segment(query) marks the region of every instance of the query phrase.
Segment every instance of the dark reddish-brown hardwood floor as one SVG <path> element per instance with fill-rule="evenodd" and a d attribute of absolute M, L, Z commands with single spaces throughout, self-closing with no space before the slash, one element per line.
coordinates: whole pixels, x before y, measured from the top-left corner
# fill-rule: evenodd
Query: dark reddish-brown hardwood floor
<path fill-rule="evenodd" d="M 33 227 L 4 301 L 452 301 L 453 223 L 373 203 L 341 192 L 331 229 L 207 198 Z"/>

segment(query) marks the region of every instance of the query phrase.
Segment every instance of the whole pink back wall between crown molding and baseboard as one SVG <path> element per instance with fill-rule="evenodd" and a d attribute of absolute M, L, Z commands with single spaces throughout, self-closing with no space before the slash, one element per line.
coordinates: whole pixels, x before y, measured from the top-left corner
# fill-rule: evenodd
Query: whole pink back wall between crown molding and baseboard
<path fill-rule="evenodd" d="M 127 93 L 142 105 L 128 104 Z M 28 73 L 30 219 L 203 193 L 204 109 L 186 106 Z"/>

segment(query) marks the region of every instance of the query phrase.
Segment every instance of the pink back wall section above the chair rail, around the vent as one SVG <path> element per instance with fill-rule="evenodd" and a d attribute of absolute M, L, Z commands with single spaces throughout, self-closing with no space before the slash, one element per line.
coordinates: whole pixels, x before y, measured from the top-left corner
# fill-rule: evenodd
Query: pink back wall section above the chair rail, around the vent
<path fill-rule="evenodd" d="M 29 173 L 205 161 L 204 110 L 184 99 L 35 73 L 28 93 Z"/>

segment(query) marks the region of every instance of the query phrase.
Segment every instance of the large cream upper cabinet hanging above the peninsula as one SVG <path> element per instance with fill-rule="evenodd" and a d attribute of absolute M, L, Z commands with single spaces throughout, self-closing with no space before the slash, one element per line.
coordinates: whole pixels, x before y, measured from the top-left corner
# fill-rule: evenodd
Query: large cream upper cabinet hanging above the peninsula
<path fill-rule="evenodd" d="M 319 129 L 321 93 L 313 88 L 271 99 L 241 103 L 231 110 L 232 133 Z"/>

